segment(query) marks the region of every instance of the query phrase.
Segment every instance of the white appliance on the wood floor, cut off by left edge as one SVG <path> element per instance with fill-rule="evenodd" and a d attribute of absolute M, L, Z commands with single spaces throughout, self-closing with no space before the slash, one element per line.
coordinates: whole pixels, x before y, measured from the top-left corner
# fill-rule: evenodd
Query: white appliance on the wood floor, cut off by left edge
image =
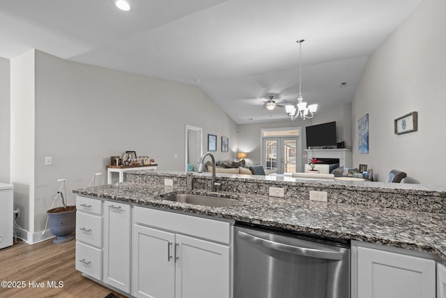
<path fill-rule="evenodd" d="M 0 183 L 0 248 L 13 245 L 14 186 Z"/>

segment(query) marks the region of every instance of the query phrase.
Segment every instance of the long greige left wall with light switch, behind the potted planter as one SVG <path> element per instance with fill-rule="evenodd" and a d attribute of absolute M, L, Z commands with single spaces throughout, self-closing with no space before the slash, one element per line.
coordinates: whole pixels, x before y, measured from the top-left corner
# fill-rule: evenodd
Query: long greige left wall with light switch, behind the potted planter
<path fill-rule="evenodd" d="M 17 61 L 24 58 L 13 59 L 11 69 L 17 71 Z M 30 197 L 35 228 L 24 227 L 31 232 L 45 227 L 46 210 L 60 186 L 56 179 L 66 179 L 68 203 L 75 204 L 72 189 L 88 186 L 93 173 L 102 172 L 96 184 L 105 184 L 109 156 L 132 150 L 154 158 L 160 170 L 184 170 L 186 124 L 203 128 L 203 150 L 207 134 L 213 133 L 218 139 L 215 156 L 235 157 L 236 124 L 197 87 L 65 61 L 37 50 L 35 64 L 35 88 L 26 99 L 30 107 L 35 103 L 36 119 L 13 111 L 17 121 L 29 116 L 26 122 L 35 125 L 32 135 L 26 130 L 23 138 L 29 144 L 22 147 L 35 162 L 20 169 L 36 181 Z M 30 77 L 29 86 L 34 86 L 34 61 L 26 65 L 14 82 Z M 229 137 L 229 153 L 220 151 L 222 135 Z M 44 165 L 45 156 L 53 157 L 53 165 Z"/>

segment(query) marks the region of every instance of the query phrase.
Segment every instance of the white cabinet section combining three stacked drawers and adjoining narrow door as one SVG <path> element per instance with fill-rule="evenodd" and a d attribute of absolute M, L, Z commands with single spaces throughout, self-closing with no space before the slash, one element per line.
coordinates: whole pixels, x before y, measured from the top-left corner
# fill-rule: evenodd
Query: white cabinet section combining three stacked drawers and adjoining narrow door
<path fill-rule="evenodd" d="M 76 269 L 130 292 L 130 205 L 78 195 L 76 208 Z"/>

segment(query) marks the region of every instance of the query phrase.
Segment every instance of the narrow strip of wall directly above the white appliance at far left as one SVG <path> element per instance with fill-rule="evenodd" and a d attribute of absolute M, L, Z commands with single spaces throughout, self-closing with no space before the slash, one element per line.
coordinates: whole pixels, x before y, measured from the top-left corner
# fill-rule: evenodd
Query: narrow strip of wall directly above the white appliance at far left
<path fill-rule="evenodd" d="M 10 182 L 10 74 L 9 60 L 0 57 L 0 182 Z"/>

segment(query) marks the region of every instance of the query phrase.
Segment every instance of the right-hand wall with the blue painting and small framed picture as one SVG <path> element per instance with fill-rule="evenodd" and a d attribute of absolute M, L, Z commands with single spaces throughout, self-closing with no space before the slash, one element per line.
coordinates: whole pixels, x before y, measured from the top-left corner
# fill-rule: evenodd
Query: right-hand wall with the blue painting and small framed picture
<path fill-rule="evenodd" d="M 446 1 L 424 0 L 369 57 L 353 100 L 353 164 L 384 181 L 445 185 Z M 394 119 L 418 112 L 418 131 L 394 134 Z M 369 154 L 357 151 L 357 120 L 369 113 Z"/>

